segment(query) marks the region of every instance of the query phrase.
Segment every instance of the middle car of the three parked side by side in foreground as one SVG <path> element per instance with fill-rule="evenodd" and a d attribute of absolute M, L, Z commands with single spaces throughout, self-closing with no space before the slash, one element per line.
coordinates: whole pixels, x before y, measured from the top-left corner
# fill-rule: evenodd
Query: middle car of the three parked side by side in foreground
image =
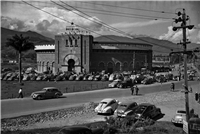
<path fill-rule="evenodd" d="M 126 117 L 132 110 L 134 110 L 138 104 L 136 102 L 122 102 L 118 105 L 117 109 L 115 110 L 115 114 L 117 117 Z"/>

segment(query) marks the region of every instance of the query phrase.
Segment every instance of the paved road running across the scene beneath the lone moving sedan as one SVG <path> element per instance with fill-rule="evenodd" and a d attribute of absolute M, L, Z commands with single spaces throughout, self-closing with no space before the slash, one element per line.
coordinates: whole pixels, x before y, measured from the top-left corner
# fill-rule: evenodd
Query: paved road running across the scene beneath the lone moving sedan
<path fill-rule="evenodd" d="M 182 88 L 184 81 L 176 82 L 175 87 L 177 89 Z M 198 85 L 199 82 L 191 81 L 189 86 Z M 169 90 L 170 83 L 152 84 L 152 85 L 139 85 L 139 94 L 148 94 L 153 92 L 167 91 Z M 104 89 L 97 91 L 68 93 L 64 94 L 62 98 L 48 99 L 48 100 L 32 100 L 31 98 L 23 99 L 7 99 L 0 101 L 0 119 L 17 117 L 21 115 L 57 110 L 62 108 L 68 108 L 78 106 L 87 102 L 99 102 L 103 98 L 120 98 L 124 96 L 131 96 L 130 89 Z"/>

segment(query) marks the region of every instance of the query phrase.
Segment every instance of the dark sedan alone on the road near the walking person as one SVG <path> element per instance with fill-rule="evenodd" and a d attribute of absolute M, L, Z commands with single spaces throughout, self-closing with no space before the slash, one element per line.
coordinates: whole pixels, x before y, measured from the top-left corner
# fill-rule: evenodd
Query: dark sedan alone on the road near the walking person
<path fill-rule="evenodd" d="M 42 100 L 46 98 L 59 98 L 62 92 L 56 87 L 45 87 L 41 91 L 36 91 L 31 94 L 33 99 Z"/>

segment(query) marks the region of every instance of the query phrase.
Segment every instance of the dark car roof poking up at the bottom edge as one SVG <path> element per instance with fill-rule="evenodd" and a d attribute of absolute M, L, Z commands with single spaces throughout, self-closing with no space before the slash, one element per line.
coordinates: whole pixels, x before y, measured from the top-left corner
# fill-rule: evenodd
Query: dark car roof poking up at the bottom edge
<path fill-rule="evenodd" d="M 58 134 L 103 134 L 103 133 L 104 131 L 101 128 L 90 129 L 85 126 L 64 127 L 58 132 Z"/>

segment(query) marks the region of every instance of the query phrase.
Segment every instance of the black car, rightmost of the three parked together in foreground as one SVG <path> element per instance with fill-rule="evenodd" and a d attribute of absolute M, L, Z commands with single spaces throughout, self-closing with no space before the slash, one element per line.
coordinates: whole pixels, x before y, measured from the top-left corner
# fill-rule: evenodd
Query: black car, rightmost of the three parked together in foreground
<path fill-rule="evenodd" d="M 156 116 L 161 115 L 161 109 L 150 103 L 142 103 L 137 106 L 135 110 L 130 112 L 128 116 L 135 116 L 139 118 L 150 118 L 154 119 Z"/>

